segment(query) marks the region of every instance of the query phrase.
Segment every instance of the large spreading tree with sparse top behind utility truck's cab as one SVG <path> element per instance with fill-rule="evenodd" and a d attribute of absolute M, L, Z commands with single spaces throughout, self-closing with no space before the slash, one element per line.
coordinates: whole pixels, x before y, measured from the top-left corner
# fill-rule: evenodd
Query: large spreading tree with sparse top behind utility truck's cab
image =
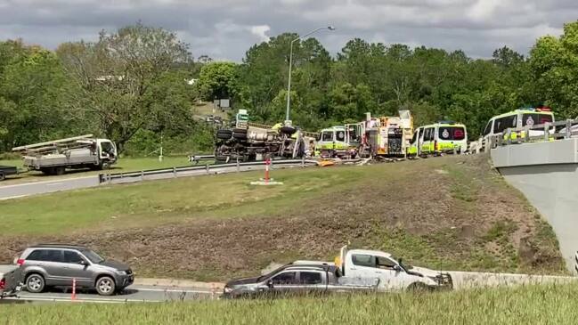
<path fill-rule="evenodd" d="M 57 53 L 80 89 L 78 109 L 93 114 L 121 151 L 158 110 L 174 108 L 159 107 L 155 85 L 172 68 L 191 61 L 188 45 L 174 32 L 140 23 L 115 33 L 102 31 L 96 43 L 61 45 Z"/>

